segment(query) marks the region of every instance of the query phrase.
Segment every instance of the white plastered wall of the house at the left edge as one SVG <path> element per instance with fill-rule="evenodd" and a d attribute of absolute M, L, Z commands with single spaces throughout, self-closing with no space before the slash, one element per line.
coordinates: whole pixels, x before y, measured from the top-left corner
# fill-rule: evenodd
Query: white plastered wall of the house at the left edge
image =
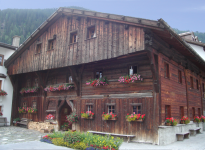
<path fill-rule="evenodd" d="M 4 62 L 8 59 L 15 51 L 10 50 L 4 47 L 0 47 L 0 54 L 4 55 Z M 11 120 L 11 108 L 12 108 L 12 97 L 13 97 L 13 86 L 11 84 L 10 78 L 7 75 L 7 69 L 3 66 L 0 66 L 0 73 L 6 75 L 6 78 L 1 78 L 2 87 L 1 89 L 6 91 L 8 95 L 0 96 L 0 106 L 3 113 L 3 117 L 7 118 L 7 124 L 10 125 Z"/>

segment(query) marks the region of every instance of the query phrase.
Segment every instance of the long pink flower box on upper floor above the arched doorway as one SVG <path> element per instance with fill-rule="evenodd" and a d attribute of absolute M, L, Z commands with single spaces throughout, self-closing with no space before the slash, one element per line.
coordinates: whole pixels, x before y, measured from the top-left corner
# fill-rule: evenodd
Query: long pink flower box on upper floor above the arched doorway
<path fill-rule="evenodd" d="M 70 90 L 72 88 L 74 88 L 73 84 L 64 83 L 64 84 L 60 84 L 60 85 L 50 85 L 50 86 L 47 86 L 44 89 L 44 91 L 47 91 L 47 92 L 63 91 L 63 90 Z"/>

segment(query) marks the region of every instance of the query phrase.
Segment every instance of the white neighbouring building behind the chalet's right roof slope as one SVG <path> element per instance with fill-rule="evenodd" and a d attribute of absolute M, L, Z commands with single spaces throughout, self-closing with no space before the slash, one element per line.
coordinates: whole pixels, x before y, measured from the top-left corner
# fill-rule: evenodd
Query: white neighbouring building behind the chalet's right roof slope
<path fill-rule="evenodd" d="M 205 60 L 205 43 L 199 41 L 193 32 L 179 34 Z"/>

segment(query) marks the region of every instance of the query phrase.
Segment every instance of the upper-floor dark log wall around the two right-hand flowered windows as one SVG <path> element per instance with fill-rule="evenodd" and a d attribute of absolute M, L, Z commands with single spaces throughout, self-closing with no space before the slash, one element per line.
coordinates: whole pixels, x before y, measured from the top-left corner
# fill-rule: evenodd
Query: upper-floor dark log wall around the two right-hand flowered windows
<path fill-rule="evenodd" d="M 137 83 L 120 83 L 120 76 L 128 75 L 129 66 L 138 66 L 138 74 L 144 79 Z M 96 71 L 102 71 L 103 77 L 107 77 L 107 86 L 92 87 L 86 85 L 86 81 L 94 79 Z M 146 93 L 153 90 L 152 72 L 146 54 L 113 61 L 103 61 L 85 65 L 82 75 L 82 96 L 84 95 L 106 95 L 126 93 Z"/>

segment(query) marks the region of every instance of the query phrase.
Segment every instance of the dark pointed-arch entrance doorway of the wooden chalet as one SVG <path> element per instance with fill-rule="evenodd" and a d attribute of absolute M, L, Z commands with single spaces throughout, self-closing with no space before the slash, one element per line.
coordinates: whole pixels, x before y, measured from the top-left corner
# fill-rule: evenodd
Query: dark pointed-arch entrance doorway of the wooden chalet
<path fill-rule="evenodd" d="M 67 104 L 67 102 L 65 101 L 65 103 L 63 104 L 63 106 L 60 109 L 60 115 L 59 115 L 59 123 L 60 123 L 60 128 L 62 125 L 64 125 L 64 123 L 68 123 L 66 120 L 66 116 L 70 115 L 72 112 L 70 106 Z M 68 129 L 71 129 L 72 126 L 69 126 Z"/>

